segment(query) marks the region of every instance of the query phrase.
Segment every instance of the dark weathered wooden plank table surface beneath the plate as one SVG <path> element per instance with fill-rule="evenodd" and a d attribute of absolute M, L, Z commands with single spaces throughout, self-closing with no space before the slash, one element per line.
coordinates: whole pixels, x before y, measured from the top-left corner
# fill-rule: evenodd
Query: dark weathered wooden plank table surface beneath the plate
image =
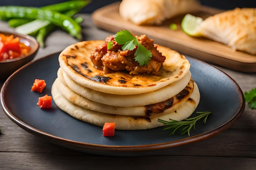
<path fill-rule="evenodd" d="M 90 14 L 84 18 L 84 40 L 102 40 L 113 34 L 97 29 Z M 12 30 L 0 22 L 1 30 Z M 63 31 L 54 31 L 40 48 L 35 60 L 63 50 L 77 42 Z M 243 92 L 256 87 L 256 73 L 242 73 L 218 66 L 231 76 Z M 0 86 L 4 81 L 0 82 Z M 31 135 L 13 123 L 0 109 L 0 170 L 70 170 L 70 169 L 196 169 L 255 170 L 256 110 L 246 104 L 244 113 L 227 130 L 204 141 L 170 150 L 166 155 L 110 157 L 91 155 L 52 144 Z"/>

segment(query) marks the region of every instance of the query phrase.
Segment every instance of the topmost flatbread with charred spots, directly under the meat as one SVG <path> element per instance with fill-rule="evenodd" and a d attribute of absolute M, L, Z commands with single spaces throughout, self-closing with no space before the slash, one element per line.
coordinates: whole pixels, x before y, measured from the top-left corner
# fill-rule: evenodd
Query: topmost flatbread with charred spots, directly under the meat
<path fill-rule="evenodd" d="M 158 46 L 157 49 L 166 56 L 166 60 L 157 75 L 130 75 L 121 71 L 103 74 L 94 67 L 90 53 L 95 46 L 104 42 L 102 40 L 83 41 L 68 46 L 59 55 L 59 63 L 63 72 L 81 86 L 116 95 L 137 95 L 156 91 L 182 79 L 189 72 L 190 63 L 183 55 L 169 48 Z M 91 79 L 95 76 L 98 76 L 99 82 Z M 124 79 L 125 83 L 120 81 Z"/>

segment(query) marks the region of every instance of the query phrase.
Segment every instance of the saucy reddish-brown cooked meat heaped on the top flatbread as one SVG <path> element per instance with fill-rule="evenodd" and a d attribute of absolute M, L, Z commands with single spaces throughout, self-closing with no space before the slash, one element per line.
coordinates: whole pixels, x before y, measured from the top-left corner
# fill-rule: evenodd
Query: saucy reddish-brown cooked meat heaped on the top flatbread
<path fill-rule="evenodd" d="M 141 45 L 148 49 L 152 53 L 151 60 L 148 65 L 139 66 L 139 63 L 135 61 L 134 54 L 137 47 L 130 51 L 122 51 L 121 45 L 114 41 L 113 36 L 106 38 L 106 42 L 94 48 L 91 53 L 91 60 L 95 67 L 109 73 L 110 71 L 123 71 L 126 70 L 130 74 L 147 73 L 155 74 L 162 66 L 165 60 L 165 56 L 157 50 L 157 45 L 154 44 L 152 39 L 149 39 L 146 35 L 136 36 Z M 110 50 L 107 50 L 108 42 L 112 41 L 113 46 Z"/>

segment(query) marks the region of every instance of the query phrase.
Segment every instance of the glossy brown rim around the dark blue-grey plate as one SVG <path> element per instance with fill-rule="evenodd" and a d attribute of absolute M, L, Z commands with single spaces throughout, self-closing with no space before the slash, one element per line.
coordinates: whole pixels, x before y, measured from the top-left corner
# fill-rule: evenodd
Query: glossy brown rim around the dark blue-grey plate
<path fill-rule="evenodd" d="M 27 66 L 29 66 L 31 64 L 40 62 L 41 60 L 47 60 L 47 58 L 53 57 L 54 55 L 57 55 L 59 53 L 60 52 L 52 53 L 52 54 L 49 54 L 49 55 L 42 57 L 38 60 L 29 62 L 28 64 L 22 66 L 17 71 L 15 71 L 10 77 L 7 78 L 7 80 L 2 85 L 2 88 L 0 91 L 0 102 L 1 102 L 2 109 L 5 113 L 5 115 L 7 115 L 7 117 L 9 117 L 9 119 L 11 119 L 11 121 L 13 121 L 15 124 L 17 124 L 20 128 L 26 130 L 27 132 L 29 132 L 35 136 L 43 137 L 45 139 L 51 139 L 51 141 L 49 141 L 49 142 L 62 145 L 66 148 L 79 150 L 81 152 L 90 152 L 90 151 L 94 152 L 94 150 L 97 150 L 98 152 L 113 152 L 114 151 L 114 152 L 118 153 L 118 152 L 138 152 L 138 151 L 146 151 L 146 150 L 160 150 L 160 149 L 165 149 L 165 148 L 173 148 L 173 147 L 177 147 L 177 146 L 183 146 L 185 144 L 191 144 L 196 141 L 209 139 L 210 137 L 213 137 L 214 135 L 217 135 L 220 132 L 226 130 L 232 124 L 234 124 L 236 122 L 236 120 L 242 115 L 243 111 L 245 110 L 245 99 L 244 99 L 244 97 L 242 97 L 243 91 L 241 90 L 240 86 L 236 83 L 236 81 L 232 77 L 230 77 L 227 73 L 223 72 L 217 66 L 214 66 L 207 62 L 198 60 L 191 56 L 185 55 L 185 57 L 189 57 L 191 60 L 195 60 L 196 62 L 202 62 L 202 64 L 207 64 L 211 67 L 214 67 L 215 69 L 218 69 L 218 71 L 220 71 L 221 73 L 224 73 L 236 85 L 236 89 L 240 93 L 240 96 L 238 96 L 239 99 L 241 99 L 240 106 L 239 106 L 239 109 L 237 110 L 237 112 L 234 113 L 234 116 L 232 116 L 231 119 L 226 121 L 224 124 L 221 124 L 220 126 L 214 128 L 212 130 L 209 130 L 207 132 L 203 132 L 198 135 L 182 138 L 182 139 L 175 140 L 175 141 L 168 141 L 168 142 L 162 142 L 162 143 L 157 143 L 157 144 L 135 145 L 135 146 L 118 146 L 118 145 L 115 146 L 115 145 L 90 144 L 90 143 L 84 143 L 84 142 L 74 141 L 74 140 L 70 140 L 70 139 L 65 139 L 63 137 L 58 137 L 56 135 L 52 135 L 47 132 L 43 132 L 39 129 L 36 129 L 36 128 L 32 127 L 31 125 L 26 124 L 22 120 L 18 119 L 18 117 L 16 117 L 15 115 L 13 115 L 13 113 L 11 113 L 11 111 L 7 108 L 7 106 L 4 102 L 4 89 L 8 85 L 9 80 L 17 72 L 21 71 L 22 69 L 26 68 Z M 101 154 L 101 155 L 105 155 L 105 154 Z M 109 155 L 109 154 L 107 154 L 107 155 Z"/>

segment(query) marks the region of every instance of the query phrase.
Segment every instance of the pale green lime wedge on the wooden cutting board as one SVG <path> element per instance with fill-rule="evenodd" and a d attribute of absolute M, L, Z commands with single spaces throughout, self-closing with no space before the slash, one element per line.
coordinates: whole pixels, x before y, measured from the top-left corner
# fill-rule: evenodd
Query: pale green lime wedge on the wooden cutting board
<path fill-rule="evenodd" d="M 202 36 L 200 31 L 200 23 L 203 21 L 202 18 L 196 17 L 191 14 L 186 14 L 181 22 L 182 30 L 193 37 L 200 37 Z"/>

